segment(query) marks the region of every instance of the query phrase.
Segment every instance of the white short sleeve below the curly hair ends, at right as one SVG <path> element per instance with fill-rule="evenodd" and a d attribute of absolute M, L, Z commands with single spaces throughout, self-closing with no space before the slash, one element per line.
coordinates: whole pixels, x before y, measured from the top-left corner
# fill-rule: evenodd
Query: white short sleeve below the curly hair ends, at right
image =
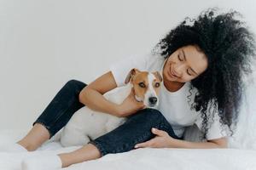
<path fill-rule="evenodd" d="M 209 112 L 210 110 L 211 112 Z M 208 109 L 207 115 L 211 115 L 211 116 L 208 116 L 209 117 L 208 123 L 210 127 L 208 128 L 208 132 L 206 136 L 207 140 L 219 139 L 219 138 L 228 136 L 228 127 L 226 125 L 222 125 L 219 122 L 220 117 L 218 116 L 218 110 L 213 111 L 213 109 Z M 202 130 L 202 122 L 203 122 L 203 119 L 201 117 L 201 114 L 199 114 L 195 121 L 195 124 L 201 130 Z"/>

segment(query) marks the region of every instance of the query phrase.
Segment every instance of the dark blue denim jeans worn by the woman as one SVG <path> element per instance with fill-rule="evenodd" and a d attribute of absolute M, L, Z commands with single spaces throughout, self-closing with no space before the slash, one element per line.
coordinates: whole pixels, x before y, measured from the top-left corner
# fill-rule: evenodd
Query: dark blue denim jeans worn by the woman
<path fill-rule="evenodd" d="M 42 124 L 48 129 L 49 138 L 54 136 L 67 124 L 75 111 L 84 106 L 79 102 L 79 93 L 85 86 L 84 82 L 68 81 L 33 125 Z M 160 111 L 147 108 L 128 116 L 124 124 L 97 139 L 90 140 L 89 144 L 94 144 L 102 156 L 129 151 L 134 149 L 135 144 L 154 138 L 152 127 L 166 131 L 172 138 L 182 139 L 173 132 L 172 126 Z"/>

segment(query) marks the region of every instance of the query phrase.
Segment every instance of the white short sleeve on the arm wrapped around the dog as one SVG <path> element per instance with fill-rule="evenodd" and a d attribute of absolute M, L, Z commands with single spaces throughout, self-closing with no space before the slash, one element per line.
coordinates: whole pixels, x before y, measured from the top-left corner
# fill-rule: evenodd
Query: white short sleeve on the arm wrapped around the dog
<path fill-rule="evenodd" d="M 150 56 L 147 54 L 132 55 L 113 63 L 113 65 L 110 65 L 110 71 L 113 74 L 117 87 L 125 85 L 125 78 L 128 76 L 131 69 L 137 68 L 140 71 L 146 71 L 149 58 Z"/>

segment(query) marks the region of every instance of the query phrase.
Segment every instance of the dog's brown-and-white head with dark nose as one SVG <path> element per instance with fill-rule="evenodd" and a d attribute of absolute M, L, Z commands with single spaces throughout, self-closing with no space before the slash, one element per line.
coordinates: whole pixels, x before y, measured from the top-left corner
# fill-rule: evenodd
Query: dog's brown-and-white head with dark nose
<path fill-rule="evenodd" d="M 131 82 L 137 101 L 143 101 L 148 108 L 155 108 L 159 104 L 158 94 L 163 81 L 158 71 L 148 72 L 131 69 L 125 78 L 125 84 Z"/>

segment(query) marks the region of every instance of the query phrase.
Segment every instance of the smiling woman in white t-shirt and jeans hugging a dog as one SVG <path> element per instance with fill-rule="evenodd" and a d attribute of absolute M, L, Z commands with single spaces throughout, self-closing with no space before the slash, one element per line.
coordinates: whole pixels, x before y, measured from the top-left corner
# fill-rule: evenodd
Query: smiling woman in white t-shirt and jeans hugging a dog
<path fill-rule="evenodd" d="M 236 14 L 214 16 L 214 9 L 209 9 L 196 20 L 184 20 L 170 31 L 154 53 L 125 59 L 89 85 L 75 80 L 67 82 L 33 123 L 31 131 L 13 148 L 36 150 L 84 105 L 129 119 L 79 150 L 40 158 L 44 167 L 67 167 L 141 147 L 226 148 L 226 137 L 232 135 L 231 125 L 236 125 L 239 112 L 241 76 L 251 72 L 255 49 L 252 34 L 234 18 Z M 159 110 L 143 109 L 143 103 L 132 95 L 121 105 L 102 97 L 123 85 L 123 77 L 131 67 L 161 71 L 164 81 Z M 206 140 L 183 140 L 184 127 L 193 124 Z M 39 167 L 38 158 L 23 161 L 23 169 Z"/>

